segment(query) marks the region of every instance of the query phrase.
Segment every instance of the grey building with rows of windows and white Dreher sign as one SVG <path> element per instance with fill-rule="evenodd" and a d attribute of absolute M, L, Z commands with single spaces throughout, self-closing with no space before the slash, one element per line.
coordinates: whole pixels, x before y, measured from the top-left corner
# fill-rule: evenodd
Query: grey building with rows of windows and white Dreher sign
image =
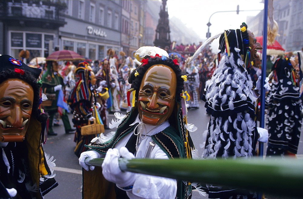
<path fill-rule="evenodd" d="M 87 59 L 104 59 L 108 48 L 121 48 L 121 1 L 65 0 L 66 25 L 59 28 L 59 49 Z"/>

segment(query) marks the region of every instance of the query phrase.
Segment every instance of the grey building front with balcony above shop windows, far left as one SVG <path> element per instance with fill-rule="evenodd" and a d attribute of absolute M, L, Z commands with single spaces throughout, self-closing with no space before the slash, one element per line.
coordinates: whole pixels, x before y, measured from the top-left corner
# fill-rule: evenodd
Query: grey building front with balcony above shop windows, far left
<path fill-rule="evenodd" d="M 0 52 L 18 58 L 46 57 L 58 43 L 58 30 L 66 24 L 62 2 L 0 1 Z"/>

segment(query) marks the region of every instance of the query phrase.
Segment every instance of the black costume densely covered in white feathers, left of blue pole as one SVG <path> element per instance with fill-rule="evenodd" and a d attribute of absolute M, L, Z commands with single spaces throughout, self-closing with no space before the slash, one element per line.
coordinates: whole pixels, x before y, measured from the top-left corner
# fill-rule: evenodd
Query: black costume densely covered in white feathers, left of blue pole
<path fill-rule="evenodd" d="M 227 30 L 220 37 L 221 53 L 228 43 L 230 53 L 224 55 L 212 78 L 206 82 L 203 96 L 210 114 L 204 158 L 252 157 L 258 133 L 255 127 L 256 96 L 241 55 L 249 57 L 247 30 Z M 249 63 L 249 62 L 248 62 Z M 229 187 L 207 185 L 209 198 L 254 198 L 254 193 Z M 241 196 L 240 196 L 241 195 Z"/>

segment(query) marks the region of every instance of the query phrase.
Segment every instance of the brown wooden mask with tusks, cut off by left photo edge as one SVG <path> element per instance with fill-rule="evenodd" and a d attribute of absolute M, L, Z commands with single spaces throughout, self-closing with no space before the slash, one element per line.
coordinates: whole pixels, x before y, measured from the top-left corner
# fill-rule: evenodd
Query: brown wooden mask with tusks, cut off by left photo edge
<path fill-rule="evenodd" d="M 22 142 L 32 114 L 34 90 L 17 78 L 5 80 L 0 88 L 0 141 Z"/>

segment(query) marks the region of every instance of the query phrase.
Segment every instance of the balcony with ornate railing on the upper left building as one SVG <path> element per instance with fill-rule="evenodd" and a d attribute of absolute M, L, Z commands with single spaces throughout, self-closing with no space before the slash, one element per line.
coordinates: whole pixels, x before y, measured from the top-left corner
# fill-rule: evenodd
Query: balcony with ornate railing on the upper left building
<path fill-rule="evenodd" d="M 56 29 L 66 24 L 60 1 L 0 1 L 0 20 L 10 25 Z"/>

